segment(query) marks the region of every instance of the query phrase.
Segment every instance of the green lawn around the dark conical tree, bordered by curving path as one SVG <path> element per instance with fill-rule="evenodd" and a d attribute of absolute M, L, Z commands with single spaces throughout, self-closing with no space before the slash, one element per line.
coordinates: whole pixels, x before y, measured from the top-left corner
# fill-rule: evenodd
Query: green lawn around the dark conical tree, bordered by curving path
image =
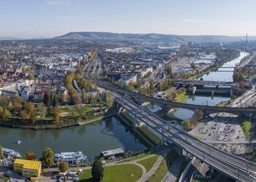
<path fill-rule="evenodd" d="M 142 170 L 136 165 L 117 165 L 113 167 L 104 167 L 103 181 L 138 181 L 142 175 Z M 80 181 L 92 181 L 91 170 L 84 170 L 79 175 Z"/>

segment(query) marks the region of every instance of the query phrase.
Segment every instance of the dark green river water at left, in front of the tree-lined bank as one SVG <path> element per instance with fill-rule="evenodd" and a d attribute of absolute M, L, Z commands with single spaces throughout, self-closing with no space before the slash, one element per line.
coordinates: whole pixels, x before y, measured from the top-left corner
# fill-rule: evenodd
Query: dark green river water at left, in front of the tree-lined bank
<path fill-rule="evenodd" d="M 20 145 L 15 141 L 21 141 Z M 146 146 L 127 131 L 116 117 L 83 126 L 52 130 L 24 130 L 0 127 L 0 145 L 24 155 L 34 151 L 41 157 L 50 147 L 54 152 L 83 151 L 89 161 L 101 151 L 123 148 L 125 151 L 143 151 Z"/>

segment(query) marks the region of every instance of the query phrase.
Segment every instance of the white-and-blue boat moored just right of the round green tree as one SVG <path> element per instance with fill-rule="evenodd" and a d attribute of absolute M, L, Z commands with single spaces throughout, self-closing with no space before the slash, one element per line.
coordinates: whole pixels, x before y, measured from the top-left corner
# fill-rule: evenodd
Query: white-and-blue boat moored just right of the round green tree
<path fill-rule="evenodd" d="M 61 152 L 54 156 L 54 162 L 83 163 L 85 160 L 86 155 L 84 155 L 82 151 Z"/>

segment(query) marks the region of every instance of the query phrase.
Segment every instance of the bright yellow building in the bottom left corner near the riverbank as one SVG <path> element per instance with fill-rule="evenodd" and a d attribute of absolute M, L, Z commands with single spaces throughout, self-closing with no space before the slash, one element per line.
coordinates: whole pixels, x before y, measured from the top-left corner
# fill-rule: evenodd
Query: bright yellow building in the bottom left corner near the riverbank
<path fill-rule="evenodd" d="M 33 160 L 15 159 L 13 170 L 31 181 L 37 181 L 41 175 L 42 163 Z"/>

